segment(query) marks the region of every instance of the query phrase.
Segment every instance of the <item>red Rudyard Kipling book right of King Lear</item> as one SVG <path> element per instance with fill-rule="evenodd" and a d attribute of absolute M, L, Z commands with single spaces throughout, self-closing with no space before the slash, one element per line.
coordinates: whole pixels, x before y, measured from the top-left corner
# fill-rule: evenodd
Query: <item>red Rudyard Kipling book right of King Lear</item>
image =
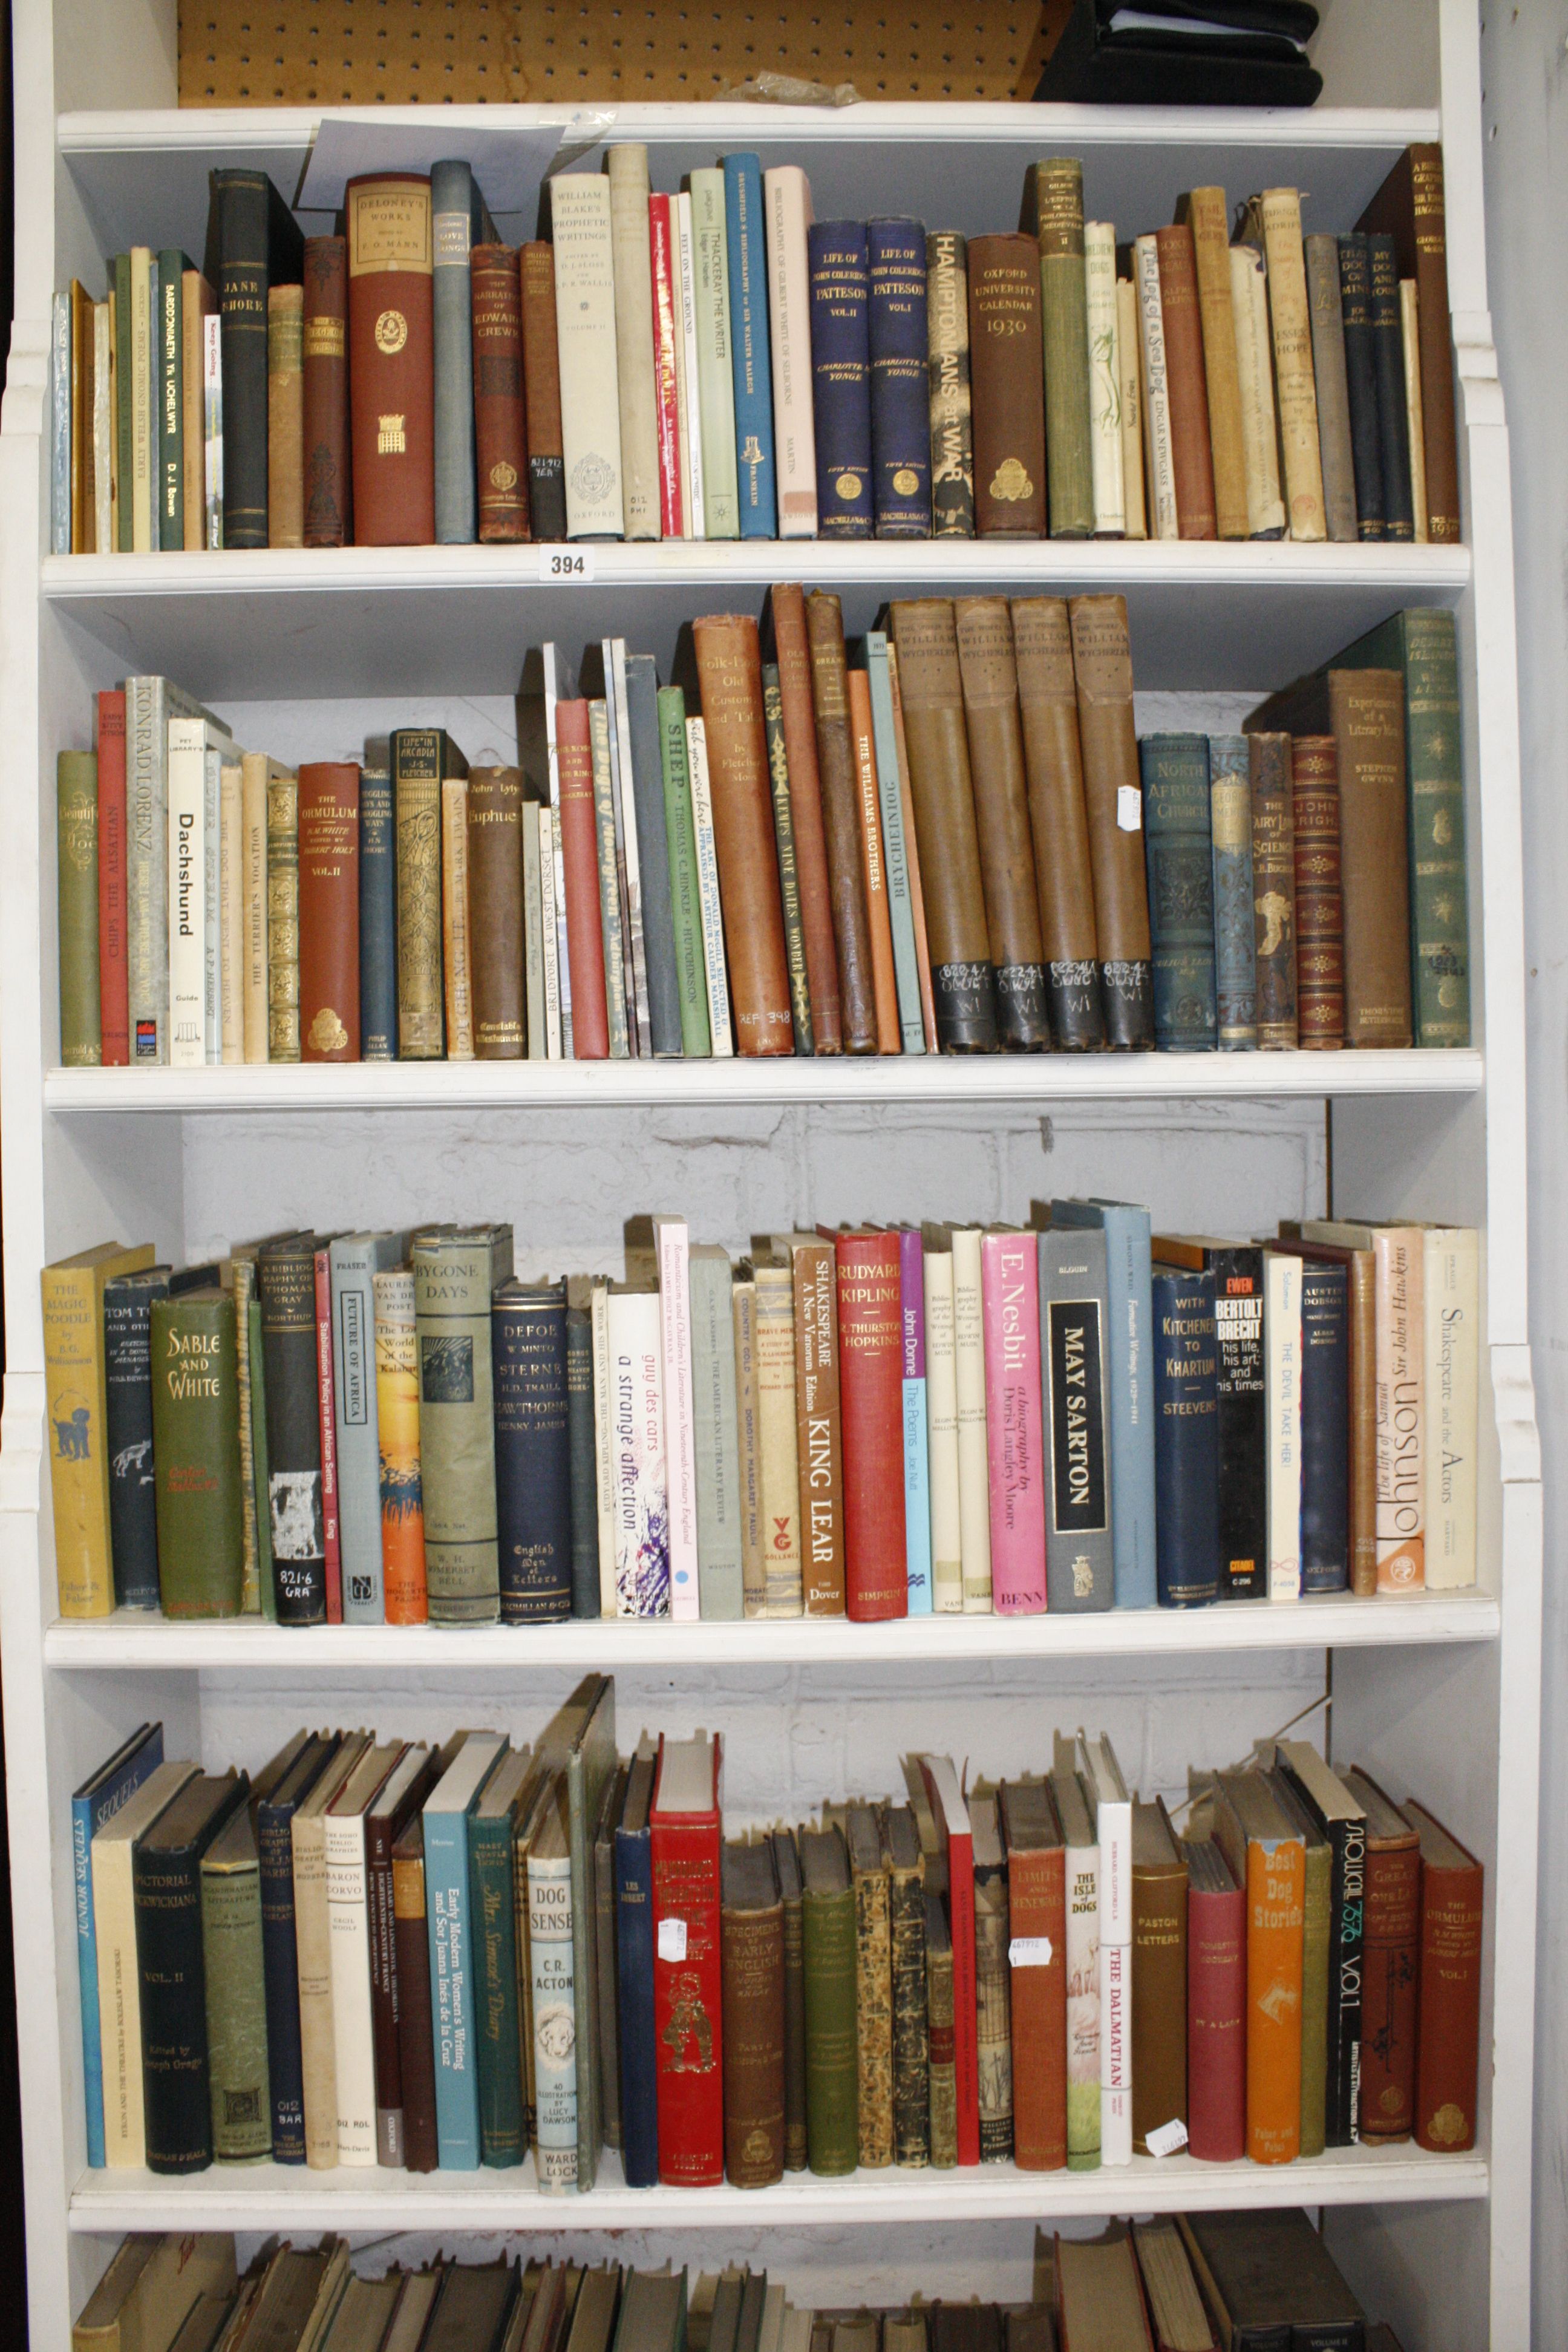
<path fill-rule="evenodd" d="M 839 1275 L 839 1428 L 844 1437 L 844 1599 L 846 1613 L 865 1623 L 910 1613 L 898 1235 L 839 1232 L 835 1251 Z"/>

